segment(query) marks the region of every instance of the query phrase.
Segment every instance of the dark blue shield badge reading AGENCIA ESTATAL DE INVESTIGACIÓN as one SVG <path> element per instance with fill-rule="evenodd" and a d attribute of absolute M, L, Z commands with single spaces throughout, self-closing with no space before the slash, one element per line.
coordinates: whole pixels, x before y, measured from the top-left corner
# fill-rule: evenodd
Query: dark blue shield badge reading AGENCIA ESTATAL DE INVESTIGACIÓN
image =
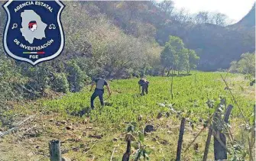
<path fill-rule="evenodd" d="M 35 66 L 60 55 L 65 44 L 62 2 L 10 0 L 3 7 L 8 16 L 3 37 L 8 56 Z"/>

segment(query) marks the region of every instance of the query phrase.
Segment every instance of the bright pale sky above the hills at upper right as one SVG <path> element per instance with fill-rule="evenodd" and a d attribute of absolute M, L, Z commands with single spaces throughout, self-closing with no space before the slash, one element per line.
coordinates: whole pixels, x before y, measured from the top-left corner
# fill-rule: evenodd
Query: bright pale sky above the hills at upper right
<path fill-rule="evenodd" d="M 235 23 L 248 14 L 255 0 L 173 0 L 173 2 L 175 8 L 185 8 L 190 14 L 199 11 L 216 11 L 226 14 L 232 23 Z"/>

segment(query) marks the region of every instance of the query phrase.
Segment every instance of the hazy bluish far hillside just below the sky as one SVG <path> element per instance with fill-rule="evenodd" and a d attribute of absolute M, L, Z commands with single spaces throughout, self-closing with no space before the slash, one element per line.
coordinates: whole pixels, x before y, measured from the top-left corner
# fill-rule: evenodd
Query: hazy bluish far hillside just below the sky
<path fill-rule="evenodd" d="M 198 69 L 203 71 L 227 69 L 241 53 L 254 52 L 255 49 L 254 8 L 238 24 L 222 27 L 183 21 L 186 14 L 180 18 L 169 16 L 151 2 L 104 2 L 104 5 L 96 2 L 96 5 L 127 34 L 138 36 L 142 30 L 151 34 L 161 46 L 169 35 L 181 37 L 186 47 L 199 53 Z"/>

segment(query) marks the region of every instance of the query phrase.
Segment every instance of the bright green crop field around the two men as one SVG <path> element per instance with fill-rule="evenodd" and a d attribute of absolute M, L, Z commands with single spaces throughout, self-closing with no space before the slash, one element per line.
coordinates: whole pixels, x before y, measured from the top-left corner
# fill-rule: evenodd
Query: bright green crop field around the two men
<path fill-rule="evenodd" d="M 208 118 L 214 109 L 209 108 L 208 100 L 218 101 L 220 97 L 226 98 L 228 104 L 234 104 L 228 90 L 225 90 L 225 83 L 222 82 L 222 72 L 194 72 L 192 76 L 173 78 L 173 99 L 170 95 L 169 77 L 148 77 L 150 81 L 149 95 L 140 96 L 138 92 L 138 79 L 114 80 L 109 82 L 112 88 L 112 97 L 106 100 L 111 106 L 92 111 L 92 121 L 104 124 L 116 125 L 120 122 L 136 121 L 138 114 L 148 118 L 154 118 L 160 111 L 169 111 L 169 108 L 161 108 L 157 103 L 173 104 L 177 111 L 192 111 L 196 118 Z M 241 76 L 242 78 L 242 76 Z M 253 113 L 254 95 L 251 97 L 243 92 L 242 87 L 250 88 L 248 81 L 242 80 L 237 75 L 228 74 L 228 83 L 235 95 L 238 105 L 241 106 L 246 116 Z M 238 79 L 238 80 L 236 80 Z M 240 87 L 240 89 L 239 89 Z M 245 90 L 245 89 L 244 89 Z M 91 93 L 88 89 L 76 94 L 66 95 L 61 99 L 47 101 L 44 106 L 53 111 L 79 111 L 89 108 Z M 105 98 L 108 98 L 105 92 Z M 99 107 L 99 99 L 96 99 Z M 238 108 L 232 111 L 233 117 L 238 117 Z"/>

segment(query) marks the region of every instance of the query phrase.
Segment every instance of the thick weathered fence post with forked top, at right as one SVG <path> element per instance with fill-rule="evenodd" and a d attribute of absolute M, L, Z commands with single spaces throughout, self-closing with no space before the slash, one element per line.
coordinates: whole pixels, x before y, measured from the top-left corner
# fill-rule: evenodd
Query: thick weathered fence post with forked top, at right
<path fill-rule="evenodd" d="M 224 121 L 225 123 L 228 123 L 228 118 L 229 115 L 231 114 L 233 106 L 232 105 L 228 105 L 228 108 L 225 112 L 225 116 L 224 116 Z M 227 149 L 226 149 L 226 137 L 225 134 L 222 134 L 218 128 L 217 128 L 217 124 L 216 121 L 222 119 L 221 115 L 219 113 L 215 114 L 215 121 L 213 122 L 213 129 L 215 130 L 215 137 L 214 137 L 214 157 L 215 160 L 219 160 L 219 159 L 227 159 Z M 222 143 L 219 143 L 219 140 L 217 140 L 216 137 L 219 137 L 219 140 L 221 140 Z M 225 147 L 223 147 L 225 146 Z"/>

